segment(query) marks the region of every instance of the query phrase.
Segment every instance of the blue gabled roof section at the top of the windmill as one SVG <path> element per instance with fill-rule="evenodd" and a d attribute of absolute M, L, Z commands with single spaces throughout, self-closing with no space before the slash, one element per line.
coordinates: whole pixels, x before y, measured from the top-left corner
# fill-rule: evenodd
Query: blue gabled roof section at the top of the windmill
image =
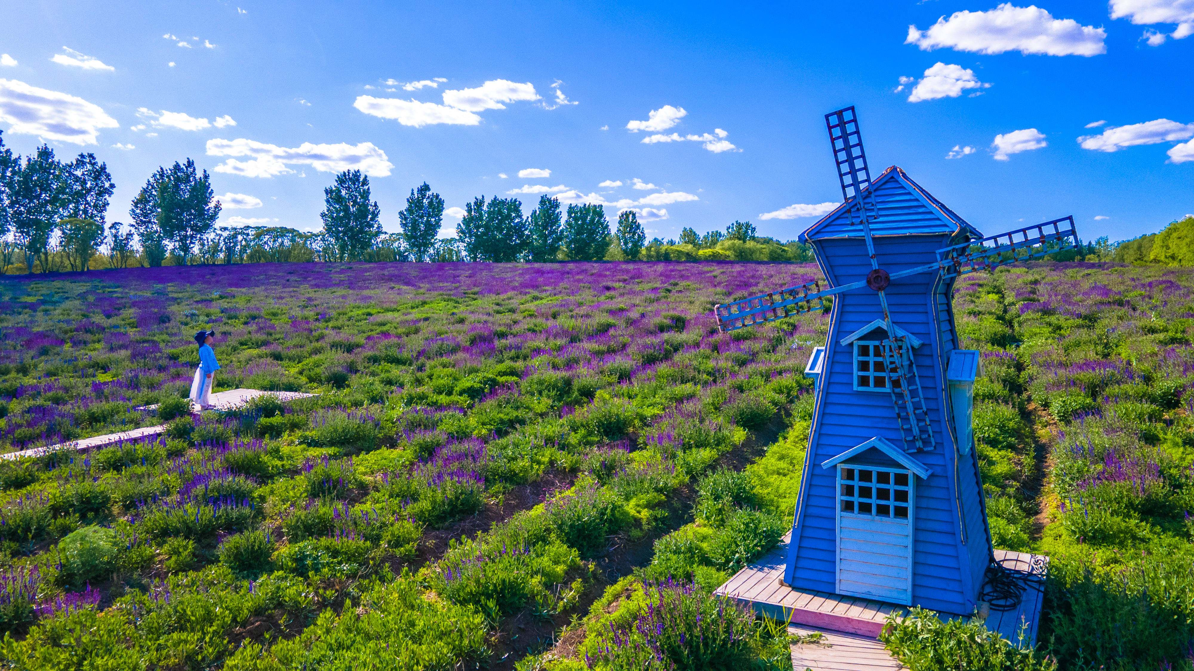
<path fill-rule="evenodd" d="M 868 191 L 874 192 L 879 210 L 879 216 L 870 222 L 872 235 L 934 235 L 966 230 L 974 238 L 983 238 L 981 232 L 925 191 L 898 166 L 881 172 L 863 189 L 863 192 Z M 862 227 L 850 223 L 843 203 L 801 233 L 800 241 L 861 236 Z"/>

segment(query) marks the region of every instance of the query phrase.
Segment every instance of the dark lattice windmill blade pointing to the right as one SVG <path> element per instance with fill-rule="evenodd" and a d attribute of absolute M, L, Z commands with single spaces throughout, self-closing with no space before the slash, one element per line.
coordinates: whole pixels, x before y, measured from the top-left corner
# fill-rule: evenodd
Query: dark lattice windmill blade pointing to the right
<path fill-rule="evenodd" d="M 1018 240 L 1016 238 L 1020 238 Z M 981 248 L 974 250 L 974 246 Z M 944 277 L 1027 261 L 1078 246 L 1073 215 L 937 250 Z M 973 250 L 973 251 L 972 251 Z M 892 277 L 896 277 L 894 275 Z"/>

